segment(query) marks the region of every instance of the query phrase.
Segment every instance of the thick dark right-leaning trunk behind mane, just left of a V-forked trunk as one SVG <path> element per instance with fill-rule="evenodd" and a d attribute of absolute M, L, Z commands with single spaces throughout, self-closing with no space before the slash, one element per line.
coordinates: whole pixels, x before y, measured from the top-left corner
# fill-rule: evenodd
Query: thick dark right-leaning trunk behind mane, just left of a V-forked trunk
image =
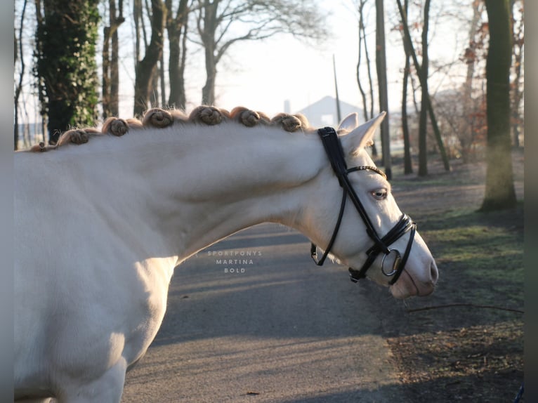
<path fill-rule="evenodd" d="M 145 48 L 144 58 L 136 65 L 133 113 L 138 116 L 143 114 L 150 104 L 150 84 L 163 47 L 164 5 L 162 0 L 152 0 L 151 8 L 150 44 Z"/>

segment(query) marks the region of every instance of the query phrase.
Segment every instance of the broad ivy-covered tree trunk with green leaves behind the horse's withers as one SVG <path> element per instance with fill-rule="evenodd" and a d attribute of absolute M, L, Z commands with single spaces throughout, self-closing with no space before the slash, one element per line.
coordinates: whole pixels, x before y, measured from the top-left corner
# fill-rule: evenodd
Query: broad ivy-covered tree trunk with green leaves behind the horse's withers
<path fill-rule="evenodd" d="M 48 142 L 70 126 L 91 126 L 98 103 L 98 0 L 36 1 L 36 69 Z"/>

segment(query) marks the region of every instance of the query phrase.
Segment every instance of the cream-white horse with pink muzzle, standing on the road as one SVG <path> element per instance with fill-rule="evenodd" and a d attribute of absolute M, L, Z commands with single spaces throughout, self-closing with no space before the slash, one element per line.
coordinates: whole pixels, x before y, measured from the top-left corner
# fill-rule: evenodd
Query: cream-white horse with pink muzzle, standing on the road
<path fill-rule="evenodd" d="M 174 267 L 214 242 L 273 222 L 328 244 L 341 187 L 315 130 L 303 119 L 289 133 L 285 119 L 247 127 L 225 118 L 164 128 L 128 121 L 124 137 L 15 154 L 16 400 L 119 402 L 127 369 L 162 322 Z M 350 166 L 374 166 L 365 145 L 382 119 L 357 127 L 353 114 L 341 123 Z M 349 178 L 386 234 L 401 216 L 391 186 L 375 171 Z M 392 246 L 404 250 L 408 239 Z M 357 211 L 346 208 L 334 257 L 361 267 L 371 244 Z M 396 298 L 428 295 L 438 277 L 418 233 L 412 245 L 390 286 Z M 381 269 L 379 256 L 367 275 L 388 285 Z"/>

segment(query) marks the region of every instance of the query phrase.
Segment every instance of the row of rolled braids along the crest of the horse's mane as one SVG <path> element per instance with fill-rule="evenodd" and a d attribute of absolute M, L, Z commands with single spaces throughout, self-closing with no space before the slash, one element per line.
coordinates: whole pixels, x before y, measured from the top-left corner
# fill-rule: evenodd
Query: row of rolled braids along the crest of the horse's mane
<path fill-rule="evenodd" d="M 55 150 L 66 144 L 84 144 L 93 137 L 112 135 L 124 136 L 131 130 L 140 128 L 165 128 L 172 125 L 204 124 L 214 126 L 229 121 L 235 121 L 247 127 L 257 125 L 281 127 L 284 131 L 295 132 L 311 129 L 308 119 L 303 114 L 276 114 L 272 119 L 263 112 L 249 110 L 246 107 L 238 106 L 228 112 L 228 110 L 218 107 L 201 105 L 196 107 L 190 114 L 185 114 L 181 110 L 164 110 L 152 108 L 147 110 L 142 119 L 129 118 L 121 119 L 109 117 L 100 128 L 73 128 L 60 136 L 55 145 L 45 145 L 41 142 L 29 149 L 30 152 L 45 152 Z"/>

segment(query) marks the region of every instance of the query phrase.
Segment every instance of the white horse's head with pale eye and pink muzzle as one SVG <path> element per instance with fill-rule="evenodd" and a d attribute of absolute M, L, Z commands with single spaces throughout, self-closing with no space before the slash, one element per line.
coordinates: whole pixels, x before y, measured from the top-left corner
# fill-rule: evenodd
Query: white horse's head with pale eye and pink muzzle
<path fill-rule="evenodd" d="M 306 223 L 316 223 L 317 228 L 310 228 L 307 231 L 323 234 L 322 241 L 316 240 L 315 242 L 327 245 L 330 242 L 328 240 L 328 237 L 331 236 L 330 231 L 336 225 L 333 232 L 333 234 L 337 233 L 332 246 L 332 255 L 340 263 L 348 265 L 352 273 L 361 272 L 361 275 L 373 279 L 378 284 L 390 285 L 391 292 L 396 298 L 414 295 L 427 296 L 433 292 L 438 280 L 435 260 L 424 240 L 418 233 L 414 232 L 414 228 L 411 230 L 410 218 L 403 216 L 408 221 L 402 223 L 402 212 L 395 202 L 390 183 L 386 180 L 386 176 L 375 168 L 374 162 L 365 150 L 365 147 L 372 144 L 372 136 L 384 116 L 385 113 L 380 114 L 375 119 L 359 126 L 357 114 L 350 114 L 346 119 L 343 119 L 339 126 L 339 139 L 346 164 L 351 167 L 359 167 L 356 171 L 350 172 L 348 178 L 351 187 L 355 190 L 355 196 L 362 206 L 360 209 L 363 208 L 362 211 L 366 217 L 362 218 L 357 209 L 348 204 L 348 207 L 343 211 L 341 225 L 334 223 L 341 209 L 341 191 L 339 191 L 339 180 L 332 178 L 335 173 L 327 164 L 327 169 L 320 176 L 318 189 L 315 190 L 317 197 L 313 197 L 313 200 L 315 199 L 316 202 L 313 202 L 308 208 L 307 214 L 312 219 L 305 220 Z M 314 219 L 315 217 L 320 219 Z M 375 256 L 374 254 L 367 256 L 365 251 L 372 247 L 372 243 L 375 244 L 372 240 L 375 236 L 372 237 L 372 234 L 369 234 L 365 220 L 372 224 L 372 228 L 369 230 L 379 235 L 379 238 L 388 234 L 398 225 L 405 227 L 407 224 L 408 227 L 407 231 L 400 233 L 400 237 L 393 239 L 390 244 L 386 244 L 387 251 L 390 250 L 393 253 L 378 253 Z M 325 232 L 322 228 L 326 229 Z M 402 255 L 407 261 L 399 261 Z M 372 260 L 368 260 L 369 258 Z M 402 263 L 401 273 L 392 270 L 392 267 L 397 267 L 398 263 Z M 362 271 L 360 271 L 361 267 Z M 397 272 L 398 279 L 396 280 L 392 276 Z M 358 278 L 355 277 L 355 279 Z"/>

